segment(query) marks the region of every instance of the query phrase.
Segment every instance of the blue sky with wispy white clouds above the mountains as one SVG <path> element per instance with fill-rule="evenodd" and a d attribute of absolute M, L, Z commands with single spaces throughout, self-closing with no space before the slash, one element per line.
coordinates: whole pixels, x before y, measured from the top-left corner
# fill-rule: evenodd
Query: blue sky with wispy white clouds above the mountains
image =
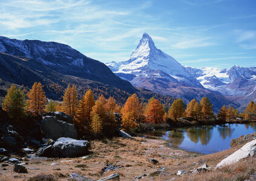
<path fill-rule="evenodd" d="M 146 32 L 183 65 L 256 66 L 254 0 L 0 3 L 0 35 L 65 43 L 104 63 L 128 60 Z"/>

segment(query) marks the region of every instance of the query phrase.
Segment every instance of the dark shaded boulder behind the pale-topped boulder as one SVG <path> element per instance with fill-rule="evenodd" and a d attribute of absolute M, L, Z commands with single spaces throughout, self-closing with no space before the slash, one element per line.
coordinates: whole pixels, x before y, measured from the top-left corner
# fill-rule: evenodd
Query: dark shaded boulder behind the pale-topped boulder
<path fill-rule="evenodd" d="M 61 137 L 77 138 L 77 129 L 74 124 L 57 120 L 56 116 L 46 116 L 42 120 L 42 132 L 46 138 L 54 141 Z"/>

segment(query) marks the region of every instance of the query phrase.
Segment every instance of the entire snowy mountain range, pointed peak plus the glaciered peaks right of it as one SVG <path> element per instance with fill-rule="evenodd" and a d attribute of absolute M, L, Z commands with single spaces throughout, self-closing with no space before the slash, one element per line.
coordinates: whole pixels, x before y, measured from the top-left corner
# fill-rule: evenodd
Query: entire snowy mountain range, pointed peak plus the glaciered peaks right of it
<path fill-rule="evenodd" d="M 144 33 L 139 45 L 125 62 L 106 65 L 123 80 L 136 87 L 164 95 L 183 98 L 188 103 L 209 97 L 215 108 L 226 104 L 243 110 L 256 100 L 256 68 L 231 69 L 191 68 L 157 49 L 151 37 Z"/>

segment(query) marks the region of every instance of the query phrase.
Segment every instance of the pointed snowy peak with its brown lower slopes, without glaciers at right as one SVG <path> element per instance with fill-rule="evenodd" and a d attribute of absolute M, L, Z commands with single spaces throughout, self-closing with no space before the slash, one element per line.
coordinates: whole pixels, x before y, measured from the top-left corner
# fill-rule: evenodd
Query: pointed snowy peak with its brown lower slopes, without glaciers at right
<path fill-rule="evenodd" d="M 199 75 L 203 75 L 202 70 L 182 66 L 173 57 L 157 49 L 151 37 L 146 33 L 143 34 L 129 60 L 119 63 L 111 62 L 106 65 L 116 75 L 130 81 L 136 87 L 180 97 L 186 103 L 193 98 L 200 101 L 206 96 L 214 104 L 215 111 L 223 104 L 240 106 L 237 101 L 220 92 L 204 87 L 198 79 Z M 221 85 L 222 82 L 215 84 Z"/>

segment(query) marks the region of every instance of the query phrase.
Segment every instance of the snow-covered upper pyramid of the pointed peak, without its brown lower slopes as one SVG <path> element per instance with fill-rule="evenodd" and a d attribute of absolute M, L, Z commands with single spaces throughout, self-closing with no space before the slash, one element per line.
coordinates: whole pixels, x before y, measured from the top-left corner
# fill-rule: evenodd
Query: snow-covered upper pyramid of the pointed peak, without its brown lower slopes
<path fill-rule="evenodd" d="M 186 86 L 202 85 L 173 57 L 157 49 L 151 37 L 144 33 L 139 45 L 125 62 L 106 64 L 119 77 L 138 86 L 140 78 L 158 77 L 182 83 Z"/>

